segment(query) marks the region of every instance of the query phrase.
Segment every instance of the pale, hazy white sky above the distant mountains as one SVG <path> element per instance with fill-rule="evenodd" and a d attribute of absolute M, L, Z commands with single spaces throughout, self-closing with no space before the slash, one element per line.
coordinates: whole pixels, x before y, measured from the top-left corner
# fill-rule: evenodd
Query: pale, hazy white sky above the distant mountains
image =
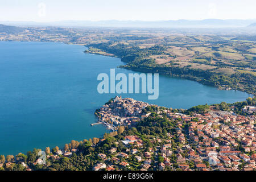
<path fill-rule="evenodd" d="M 0 0 L 0 20 L 255 19 L 256 0 Z"/>

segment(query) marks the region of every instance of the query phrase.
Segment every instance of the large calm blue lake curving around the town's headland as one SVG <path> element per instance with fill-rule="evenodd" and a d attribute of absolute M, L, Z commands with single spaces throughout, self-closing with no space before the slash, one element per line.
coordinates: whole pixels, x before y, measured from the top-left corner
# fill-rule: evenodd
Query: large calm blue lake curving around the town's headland
<path fill-rule="evenodd" d="M 114 57 L 85 54 L 84 46 L 63 43 L 0 42 L 0 154 L 64 146 L 72 139 L 102 137 L 90 126 L 94 110 L 116 94 L 97 93 L 99 73 L 135 73 L 117 68 Z M 243 101 L 250 95 L 218 90 L 195 81 L 159 76 L 158 100 L 122 94 L 160 106 L 188 109 L 200 104 Z"/>

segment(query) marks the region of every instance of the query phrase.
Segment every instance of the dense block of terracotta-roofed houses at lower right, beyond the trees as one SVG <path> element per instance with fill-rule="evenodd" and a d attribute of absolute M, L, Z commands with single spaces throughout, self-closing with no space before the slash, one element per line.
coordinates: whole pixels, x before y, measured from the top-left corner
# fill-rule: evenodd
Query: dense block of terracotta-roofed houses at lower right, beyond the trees
<path fill-rule="evenodd" d="M 188 144 L 188 157 L 181 162 L 185 165 L 181 169 L 189 170 L 183 163 L 191 160 L 197 169 L 203 170 L 238 170 L 242 163 L 246 170 L 255 169 L 254 115 L 244 117 L 228 111 L 210 111 L 193 116 L 170 113 L 168 117 L 181 118 L 180 126 L 183 121 L 190 123 L 187 137 L 181 127 L 176 128 L 179 142 Z M 203 162 L 208 162 L 209 167 Z"/>

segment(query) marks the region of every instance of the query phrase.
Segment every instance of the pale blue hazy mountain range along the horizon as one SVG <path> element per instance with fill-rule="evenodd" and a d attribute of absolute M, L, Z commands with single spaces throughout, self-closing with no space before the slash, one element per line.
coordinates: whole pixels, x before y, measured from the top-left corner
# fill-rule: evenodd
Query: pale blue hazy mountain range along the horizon
<path fill-rule="evenodd" d="M 57 22 L 0 22 L 14 26 L 59 26 L 59 27 L 142 27 L 142 28 L 235 28 L 247 27 L 255 23 L 256 19 L 204 19 L 204 20 L 161 20 L 161 21 L 141 21 L 141 20 L 102 20 L 102 21 L 57 21 Z"/>

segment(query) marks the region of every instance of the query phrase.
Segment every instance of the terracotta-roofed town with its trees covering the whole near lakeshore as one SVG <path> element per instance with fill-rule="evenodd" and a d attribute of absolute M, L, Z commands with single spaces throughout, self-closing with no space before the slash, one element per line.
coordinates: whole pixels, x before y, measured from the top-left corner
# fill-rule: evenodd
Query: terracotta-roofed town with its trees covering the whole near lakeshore
<path fill-rule="evenodd" d="M 63 149 L 47 147 L 45 164 L 36 156 L 39 149 L 6 160 L 1 155 L 0 168 L 254 171 L 255 98 L 247 101 L 251 105 L 240 115 L 234 105 L 234 111 L 217 105 L 177 110 L 116 96 L 95 112 L 98 122 L 92 127 L 104 124 L 111 130 L 103 138 L 72 140 Z"/>

